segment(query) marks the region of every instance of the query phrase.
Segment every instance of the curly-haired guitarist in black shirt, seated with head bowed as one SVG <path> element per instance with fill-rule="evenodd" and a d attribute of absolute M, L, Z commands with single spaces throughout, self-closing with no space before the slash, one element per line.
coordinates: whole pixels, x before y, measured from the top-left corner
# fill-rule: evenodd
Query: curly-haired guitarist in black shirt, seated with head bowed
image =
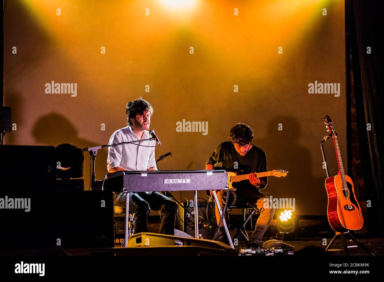
<path fill-rule="evenodd" d="M 248 204 L 253 208 L 260 210 L 260 216 L 256 222 L 255 232 L 249 238 L 250 247 L 258 247 L 263 235 L 271 224 L 275 208 L 272 201 L 266 195 L 260 193 L 259 189 L 265 188 L 268 178 L 257 178 L 255 174 L 258 172 L 266 172 L 266 156 L 261 148 L 252 145 L 253 130 L 246 124 L 238 123 L 230 130 L 229 140 L 222 142 L 217 146 L 215 152 L 209 157 L 205 163 L 205 169 L 212 170 L 215 165 L 222 162 L 225 170 L 237 171 L 239 174 L 252 173 L 248 180 L 233 183 L 232 189 L 229 190 L 228 206 Z M 217 192 L 217 198 L 224 207 L 227 192 Z M 227 220 L 227 213 L 224 213 Z M 220 213 L 216 207 L 217 223 L 220 221 Z M 219 241 L 228 244 L 227 237 L 223 231 L 223 224 L 219 228 Z"/>

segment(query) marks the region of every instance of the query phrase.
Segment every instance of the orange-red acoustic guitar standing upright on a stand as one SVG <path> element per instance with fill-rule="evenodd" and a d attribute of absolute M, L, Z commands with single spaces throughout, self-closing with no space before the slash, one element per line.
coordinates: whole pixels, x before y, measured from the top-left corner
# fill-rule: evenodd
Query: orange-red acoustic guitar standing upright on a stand
<path fill-rule="evenodd" d="M 364 223 L 361 208 L 355 196 L 352 179 L 344 173 L 338 135 L 334 130 L 332 120 L 329 115 L 324 119 L 327 131 L 333 138 L 339 166 L 338 174 L 325 180 L 325 188 L 328 193 L 328 221 L 331 228 L 337 232 L 358 230 Z"/>

